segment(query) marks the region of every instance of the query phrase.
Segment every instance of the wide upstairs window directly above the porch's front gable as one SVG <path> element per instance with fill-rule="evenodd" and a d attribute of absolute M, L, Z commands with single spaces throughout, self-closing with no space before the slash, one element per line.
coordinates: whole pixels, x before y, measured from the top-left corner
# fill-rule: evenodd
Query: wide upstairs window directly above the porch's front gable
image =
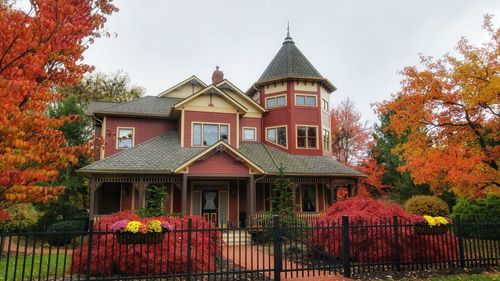
<path fill-rule="evenodd" d="M 210 146 L 219 140 L 228 142 L 229 126 L 193 123 L 193 146 Z"/>

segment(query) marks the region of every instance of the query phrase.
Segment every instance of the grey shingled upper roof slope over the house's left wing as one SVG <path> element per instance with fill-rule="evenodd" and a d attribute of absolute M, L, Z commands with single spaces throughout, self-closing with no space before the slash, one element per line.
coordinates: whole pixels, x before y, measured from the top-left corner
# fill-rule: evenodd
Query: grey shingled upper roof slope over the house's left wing
<path fill-rule="evenodd" d="M 144 96 L 129 102 L 118 103 L 111 107 L 104 107 L 100 110 L 94 111 L 93 113 L 103 115 L 167 118 L 172 112 L 172 106 L 181 100 L 182 99 L 179 98 Z"/>

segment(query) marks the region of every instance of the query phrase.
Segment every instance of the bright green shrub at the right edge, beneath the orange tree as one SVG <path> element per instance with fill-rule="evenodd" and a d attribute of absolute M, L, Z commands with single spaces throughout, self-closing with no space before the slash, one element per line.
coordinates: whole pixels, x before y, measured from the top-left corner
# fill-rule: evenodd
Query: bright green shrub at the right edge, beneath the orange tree
<path fill-rule="evenodd" d="M 490 194 L 482 199 L 460 198 L 453 207 L 453 217 L 460 216 L 463 235 L 480 239 L 500 239 L 500 196 Z M 478 225 L 479 224 L 479 225 Z"/>

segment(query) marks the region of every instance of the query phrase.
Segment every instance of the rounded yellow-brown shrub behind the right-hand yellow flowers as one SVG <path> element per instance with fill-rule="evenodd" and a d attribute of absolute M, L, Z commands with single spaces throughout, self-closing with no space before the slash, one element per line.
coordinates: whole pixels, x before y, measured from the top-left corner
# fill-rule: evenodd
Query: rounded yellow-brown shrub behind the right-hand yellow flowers
<path fill-rule="evenodd" d="M 404 209 L 415 215 L 429 215 L 434 217 L 450 215 L 448 205 L 443 199 L 429 195 L 411 197 L 406 201 Z"/>

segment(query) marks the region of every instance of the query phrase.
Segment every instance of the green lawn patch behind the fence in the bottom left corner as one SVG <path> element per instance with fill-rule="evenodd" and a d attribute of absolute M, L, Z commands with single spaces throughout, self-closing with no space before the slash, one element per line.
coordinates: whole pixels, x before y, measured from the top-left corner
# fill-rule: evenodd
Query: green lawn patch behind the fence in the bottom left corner
<path fill-rule="evenodd" d="M 14 274 L 16 280 L 21 280 L 23 275 L 24 267 L 24 279 L 38 279 L 38 274 L 40 278 L 48 276 L 61 276 L 63 272 L 67 273 L 67 268 L 71 262 L 71 255 L 66 257 L 66 264 L 64 264 L 64 254 L 59 254 L 57 259 L 57 254 L 34 254 L 27 255 L 26 262 L 24 262 L 24 256 L 19 256 L 17 260 L 17 266 L 15 264 L 16 257 L 11 256 L 9 258 L 9 264 L 7 265 L 7 258 L 0 258 L 0 281 L 14 280 Z M 49 265 L 50 258 L 50 265 Z M 56 264 L 57 259 L 57 264 Z M 41 265 L 41 267 L 40 267 Z M 33 273 L 31 273 L 31 268 L 33 267 Z M 7 278 L 5 278 L 5 273 L 7 273 Z M 31 275 L 32 274 L 32 275 Z"/>

